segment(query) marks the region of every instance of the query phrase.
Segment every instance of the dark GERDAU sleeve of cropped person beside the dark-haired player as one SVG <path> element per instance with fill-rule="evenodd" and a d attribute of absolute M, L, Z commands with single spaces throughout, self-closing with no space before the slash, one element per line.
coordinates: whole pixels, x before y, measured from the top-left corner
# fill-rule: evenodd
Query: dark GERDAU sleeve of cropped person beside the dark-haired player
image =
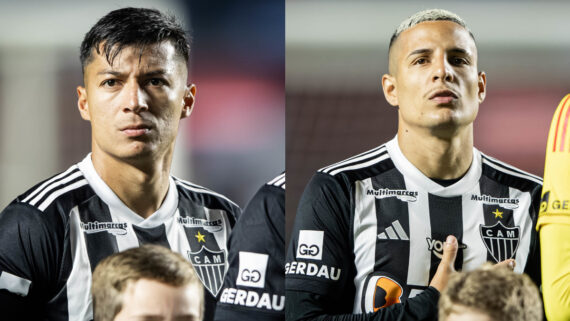
<path fill-rule="evenodd" d="M 285 320 L 285 173 L 262 186 L 230 236 L 216 321 Z"/>

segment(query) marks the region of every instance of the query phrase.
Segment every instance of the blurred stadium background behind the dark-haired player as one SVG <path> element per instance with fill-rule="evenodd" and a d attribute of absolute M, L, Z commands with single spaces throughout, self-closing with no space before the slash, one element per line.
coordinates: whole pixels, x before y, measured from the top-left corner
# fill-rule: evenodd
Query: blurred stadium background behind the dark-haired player
<path fill-rule="evenodd" d="M 192 30 L 192 116 L 172 172 L 240 206 L 285 167 L 282 1 L 0 1 L 0 208 L 90 151 L 79 45 L 107 12 L 174 13 Z"/>

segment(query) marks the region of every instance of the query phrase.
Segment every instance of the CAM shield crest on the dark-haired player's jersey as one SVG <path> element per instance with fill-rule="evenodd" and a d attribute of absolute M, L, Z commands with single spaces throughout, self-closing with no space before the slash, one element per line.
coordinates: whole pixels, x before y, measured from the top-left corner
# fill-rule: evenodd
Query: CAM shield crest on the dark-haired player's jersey
<path fill-rule="evenodd" d="M 198 252 L 188 251 L 188 258 L 204 287 L 216 296 L 222 287 L 226 274 L 225 252 L 212 251 L 202 246 Z"/>

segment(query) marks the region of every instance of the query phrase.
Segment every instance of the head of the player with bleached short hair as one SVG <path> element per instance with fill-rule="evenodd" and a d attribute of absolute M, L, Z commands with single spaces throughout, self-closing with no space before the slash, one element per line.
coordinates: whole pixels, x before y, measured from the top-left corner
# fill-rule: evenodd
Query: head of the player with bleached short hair
<path fill-rule="evenodd" d="M 472 128 L 485 98 L 475 39 L 456 14 L 431 9 L 404 20 L 392 35 L 386 100 L 399 107 L 400 131 L 430 129 L 453 136 Z"/>

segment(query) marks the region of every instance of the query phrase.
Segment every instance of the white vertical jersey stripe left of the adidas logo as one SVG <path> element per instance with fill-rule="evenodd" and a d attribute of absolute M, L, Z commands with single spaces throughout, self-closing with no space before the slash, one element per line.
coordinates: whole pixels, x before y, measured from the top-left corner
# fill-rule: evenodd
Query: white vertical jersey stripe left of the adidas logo
<path fill-rule="evenodd" d="M 354 208 L 354 263 L 356 275 L 356 295 L 354 297 L 354 313 L 362 313 L 362 288 L 364 279 L 374 270 L 376 254 L 376 203 L 374 197 L 366 197 L 366 191 L 372 188 L 372 180 L 367 178 L 355 183 Z M 343 273 L 346 273 L 343 271 Z"/>

